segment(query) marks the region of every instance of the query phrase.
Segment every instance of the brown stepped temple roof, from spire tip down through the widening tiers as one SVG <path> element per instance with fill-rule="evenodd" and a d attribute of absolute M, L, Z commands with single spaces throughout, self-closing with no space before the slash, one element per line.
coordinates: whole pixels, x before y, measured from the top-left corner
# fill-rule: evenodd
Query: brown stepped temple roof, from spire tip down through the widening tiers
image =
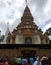
<path fill-rule="evenodd" d="M 31 31 L 35 30 L 39 30 L 38 26 L 33 22 L 34 18 L 31 14 L 31 11 L 29 9 L 29 7 L 26 5 L 24 12 L 23 12 L 23 16 L 21 17 L 21 23 L 18 24 L 18 26 L 16 27 L 16 31 L 18 30 L 27 30 L 30 29 Z M 15 31 L 13 31 L 14 33 Z"/>

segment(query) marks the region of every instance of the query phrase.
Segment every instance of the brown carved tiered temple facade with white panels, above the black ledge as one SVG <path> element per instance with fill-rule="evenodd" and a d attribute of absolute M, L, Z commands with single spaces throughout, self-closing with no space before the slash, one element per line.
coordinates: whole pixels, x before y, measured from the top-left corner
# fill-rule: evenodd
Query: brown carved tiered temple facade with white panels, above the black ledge
<path fill-rule="evenodd" d="M 26 6 L 21 23 L 18 24 L 12 33 L 8 34 L 7 44 L 49 44 L 47 34 L 33 22 L 34 18 L 28 6 Z"/>

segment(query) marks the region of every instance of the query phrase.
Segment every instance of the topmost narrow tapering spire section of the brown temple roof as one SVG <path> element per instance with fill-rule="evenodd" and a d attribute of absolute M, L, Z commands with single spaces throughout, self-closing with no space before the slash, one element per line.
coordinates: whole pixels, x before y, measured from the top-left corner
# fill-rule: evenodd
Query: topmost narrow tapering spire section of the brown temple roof
<path fill-rule="evenodd" d="M 21 21 L 33 21 L 33 16 L 30 12 L 30 9 L 28 6 L 25 7 L 25 10 L 24 10 L 24 13 L 23 13 L 23 16 L 21 17 Z"/>

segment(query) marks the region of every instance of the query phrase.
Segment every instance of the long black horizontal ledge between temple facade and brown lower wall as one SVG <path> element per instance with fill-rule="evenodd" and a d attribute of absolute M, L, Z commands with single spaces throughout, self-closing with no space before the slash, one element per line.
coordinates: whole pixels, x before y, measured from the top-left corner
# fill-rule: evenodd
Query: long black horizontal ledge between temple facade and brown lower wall
<path fill-rule="evenodd" d="M 51 49 L 50 44 L 0 44 L 0 49 L 39 48 Z"/>

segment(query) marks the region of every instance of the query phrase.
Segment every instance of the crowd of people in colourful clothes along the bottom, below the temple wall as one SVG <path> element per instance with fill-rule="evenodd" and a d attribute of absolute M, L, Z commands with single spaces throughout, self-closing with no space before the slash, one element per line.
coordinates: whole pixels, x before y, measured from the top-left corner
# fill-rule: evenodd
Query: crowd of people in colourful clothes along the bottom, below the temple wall
<path fill-rule="evenodd" d="M 18 56 L 14 58 L 14 63 L 10 64 L 7 57 L 0 58 L 0 65 L 51 65 L 51 57 L 25 57 Z"/>

